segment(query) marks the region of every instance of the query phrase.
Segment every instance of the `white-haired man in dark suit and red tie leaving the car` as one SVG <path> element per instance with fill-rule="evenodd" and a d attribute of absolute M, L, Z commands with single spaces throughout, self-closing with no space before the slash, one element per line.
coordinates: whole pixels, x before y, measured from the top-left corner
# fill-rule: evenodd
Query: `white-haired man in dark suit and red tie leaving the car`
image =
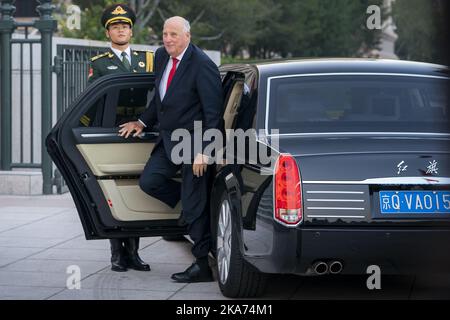
<path fill-rule="evenodd" d="M 212 281 L 208 264 L 211 232 L 208 203 L 208 157 L 203 151 L 193 153 L 191 161 L 174 163 L 171 158 L 172 132 L 186 129 L 192 136 L 194 122 L 201 127 L 220 129 L 222 126 L 222 84 L 214 62 L 198 47 L 190 43 L 189 22 L 182 17 L 165 21 L 164 47 L 155 53 L 156 93 L 139 121 L 121 126 L 119 134 L 139 135 L 144 127 L 159 122 L 160 137 L 140 178 L 140 186 L 147 194 L 175 207 L 181 199 L 182 218 L 194 241 L 195 262 L 184 272 L 175 273 L 177 282 Z M 193 141 L 191 140 L 193 143 Z M 206 143 L 202 142 L 203 150 Z M 172 178 L 181 169 L 182 183 Z"/>

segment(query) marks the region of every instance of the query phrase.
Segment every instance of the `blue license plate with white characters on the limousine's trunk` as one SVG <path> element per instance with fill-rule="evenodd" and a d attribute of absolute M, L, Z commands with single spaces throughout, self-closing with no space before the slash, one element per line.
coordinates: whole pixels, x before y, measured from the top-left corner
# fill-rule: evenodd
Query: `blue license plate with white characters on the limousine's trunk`
<path fill-rule="evenodd" d="M 450 191 L 380 191 L 382 214 L 450 214 Z"/>

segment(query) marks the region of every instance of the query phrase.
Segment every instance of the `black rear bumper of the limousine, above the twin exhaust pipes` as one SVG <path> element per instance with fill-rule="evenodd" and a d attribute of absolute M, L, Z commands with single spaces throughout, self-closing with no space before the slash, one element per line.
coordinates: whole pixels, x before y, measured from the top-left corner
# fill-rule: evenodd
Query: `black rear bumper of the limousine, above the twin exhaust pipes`
<path fill-rule="evenodd" d="M 314 262 L 333 260 L 343 263 L 342 274 L 366 274 L 371 265 L 382 274 L 450 273 L 448 229 L 284 229 L 271 254 L 246 259 L 267 273 L 308 275 Z"/>

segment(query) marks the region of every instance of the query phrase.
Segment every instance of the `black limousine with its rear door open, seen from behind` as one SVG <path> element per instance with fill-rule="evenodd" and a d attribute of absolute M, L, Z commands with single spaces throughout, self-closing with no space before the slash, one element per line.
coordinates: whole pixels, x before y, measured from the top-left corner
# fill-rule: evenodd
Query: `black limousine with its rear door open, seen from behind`
<path fill-rule="evenodd" d="M 215 165 L 213 255 L 225 296 L 261 295 L 274 273 L 449 272 L 446 67 L 317 59 L 220 70 L 225 129 L 250 132 L 242 143 L 258 149 L 238 156 L 227 144 L 239 161 Z M 47 138 L 87 239 L 186 233 L 180 205 L 139 188 L 158 133 L 117 135 L 153 91 L 152 74 L 101 78 Z M 124 106 L 130 94 L 136 102 Z"/>

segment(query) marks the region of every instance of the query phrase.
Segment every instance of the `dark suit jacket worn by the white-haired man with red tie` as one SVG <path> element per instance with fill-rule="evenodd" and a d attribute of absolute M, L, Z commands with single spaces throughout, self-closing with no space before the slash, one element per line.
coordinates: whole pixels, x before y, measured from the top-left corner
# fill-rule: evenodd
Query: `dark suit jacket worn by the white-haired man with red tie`
<path fill-rule="evenodd" d="M 202 121 L 203 131 L 210 128 L 220 129 L 223 122 L 219 70 L 216 64 L 193 44 L 187 48 L 161 101 L 159 85 L 169 58 L 164 47 L 155 53 L 156 92 L 149 107 L 140 117 L 147 127 L 159 122 L 160 141 L 164 143 L 168 157 L 173 146 L 177 144 L 170 140 L 173 130 L 183 128 L 192 132 L 194 121 Z M 206 143 L 203 143 L 203 147 L 205 146 Z"/>

